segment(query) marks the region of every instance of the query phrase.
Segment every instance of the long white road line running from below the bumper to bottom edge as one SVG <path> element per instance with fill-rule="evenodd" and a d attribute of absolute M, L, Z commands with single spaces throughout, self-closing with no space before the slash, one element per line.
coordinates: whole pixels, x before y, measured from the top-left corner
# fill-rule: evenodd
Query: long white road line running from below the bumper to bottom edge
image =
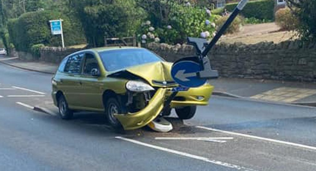
<path fill-rule="evenodd" d="M 238 165 L 234 165 L 234 164 L 230 164 L 230 163 L 226 163 L 226 162 L 221 162 L 221 161 L 216 161 L 216 160 L 212 160 L 203 156 L 197 156 L 197 155 L 193 155 L 193 154 L 189 154 L 189 153 L 185 153 L 185 152 L 181 152 L 181 151 L 177 151 L 177 150 L 172 150 L 172 149 L 168 149 L 168 148 L 164 148 L 164 147 L 160 147 L 160 146 L 156 146 L 156 145 L 152 145 L 152 144 L 147 144 L 147 143 L 143 143 L 137 140 L 133 140 L 133 139 L 129 139 L 129 138 L 124 138 L 124 137 L 115 137 L 117 139 L 123 140 L 123 141 L 127 141 L 127 142 L 131 142 L 134 144 L 138 144 L 138 145 L 143 145 L 145 147 L 149 147 L 149 148 L 153 148 L 156 150 L 161 150 L 161 151 L 166 151 L 169 153 L 173 153 L 173 154 L 177 154 L 180 156 L 185 156 L 185 157 L 190 157 L 193 159 L 197 159 L 197 160 L 202 160 L 204 162 L 209 162 L 209 163 L 213 163 L 213 164 L 217 164 L 217 165 L 221 165 L 221 166 L 225 166 L 228 168 L 234 168 L 237 170 L 244 170 L 244 171 L 256 171 L 254 169 L 250 169 L 250 168 L 245 168 L 242 166 L 238 166 Z"/>

